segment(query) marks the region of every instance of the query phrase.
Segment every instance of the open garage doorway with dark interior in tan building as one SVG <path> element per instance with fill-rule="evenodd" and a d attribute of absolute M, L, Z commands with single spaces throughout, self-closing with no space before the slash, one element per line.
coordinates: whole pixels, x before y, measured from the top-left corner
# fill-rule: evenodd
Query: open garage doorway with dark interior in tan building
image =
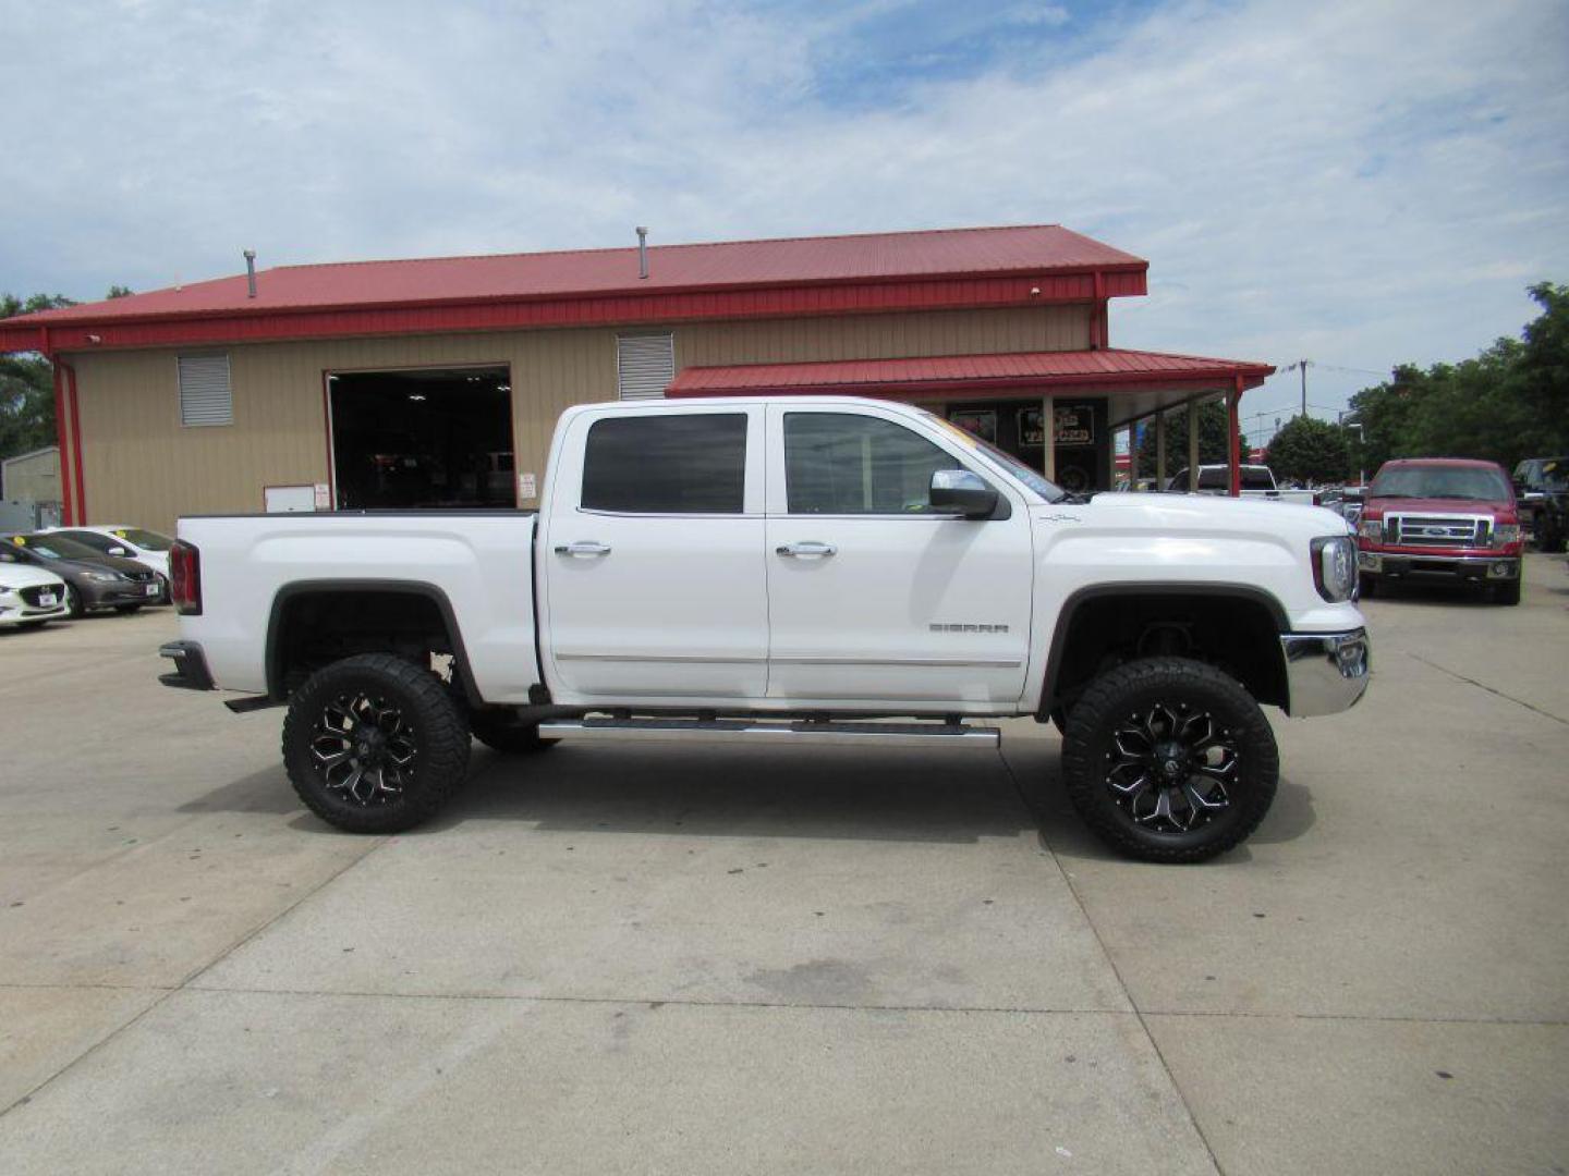
<path fill-rule="evenodd" d="M 339 510 L 518 505 L 504 367 L 326 378 Z"/>

